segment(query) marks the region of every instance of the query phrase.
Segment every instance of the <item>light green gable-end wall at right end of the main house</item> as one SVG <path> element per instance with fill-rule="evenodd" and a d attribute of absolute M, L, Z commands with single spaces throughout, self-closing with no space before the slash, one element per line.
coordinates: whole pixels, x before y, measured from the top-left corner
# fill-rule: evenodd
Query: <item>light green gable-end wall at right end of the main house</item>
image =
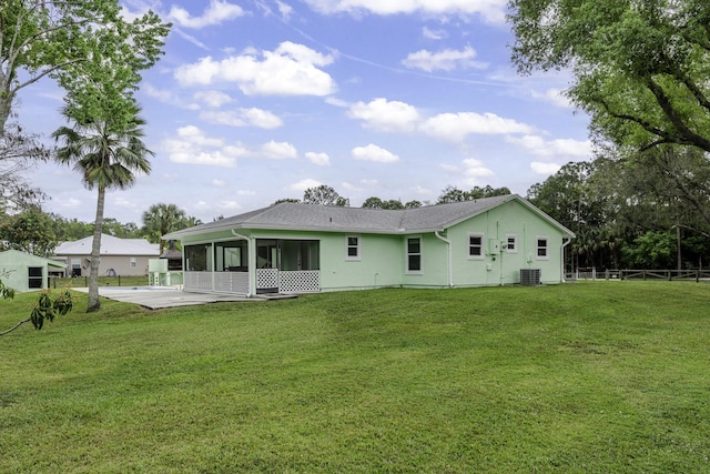
<path fill-rule="evenodd" d="M 483 259 L 470 259 L 468 236 L 483 233 Z M 504 249 L 508 235 L 516 236 L 516 250 Z M 511 201 L 452 228 L 454 285 L 499 285 L 520 282 L 520 269 L 540 269 L 541 283 L 559 283 L 562 235 L 551 223 Z M 537 256 L 538 238 L 547 239 L 547 258 Z"/>

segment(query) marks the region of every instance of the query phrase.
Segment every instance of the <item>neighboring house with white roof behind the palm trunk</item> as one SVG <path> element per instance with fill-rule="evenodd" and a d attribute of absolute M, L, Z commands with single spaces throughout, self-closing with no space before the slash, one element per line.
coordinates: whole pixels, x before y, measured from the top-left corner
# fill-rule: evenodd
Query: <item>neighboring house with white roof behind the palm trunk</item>
<path fill-rule="evenodd" d="M 67 276 L 89 276 L 93 236 L 63 242 L 54 249 L 53 259 L 67 263 Z M 119 239 L 101 235 L 99 276 L 136 276 L 148 274 L 149 259 L 160 256 L 160 245 L 145 239 Z"/>

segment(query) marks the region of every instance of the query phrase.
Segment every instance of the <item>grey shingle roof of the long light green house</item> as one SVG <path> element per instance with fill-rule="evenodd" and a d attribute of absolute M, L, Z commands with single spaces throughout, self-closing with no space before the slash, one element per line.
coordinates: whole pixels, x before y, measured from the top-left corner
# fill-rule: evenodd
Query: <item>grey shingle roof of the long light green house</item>
<path fill-rule="evenodd" d="M 528 201 L 517 194 L 508 194 L 476 201 L 427 205 L 405 210 L 343 208 L 284 202 L 172 232 L 163 235 L 163 239 L 179 240 L 186 235 L 239 229 L 395 234 L 434 232 L 450 228 L 466 219 L 470 219 L 513 200 L 517 200 L 527 205 L 531 211 L 558 226 L 566 234 L 574 235 L 569 230 L 554 221 Z"/>

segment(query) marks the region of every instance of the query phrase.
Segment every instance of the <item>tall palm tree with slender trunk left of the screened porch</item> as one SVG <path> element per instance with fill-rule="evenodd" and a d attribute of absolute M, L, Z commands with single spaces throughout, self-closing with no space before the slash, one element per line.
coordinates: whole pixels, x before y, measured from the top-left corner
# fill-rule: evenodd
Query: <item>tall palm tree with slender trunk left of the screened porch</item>
<path fill-rule="evenodd" d="M 151 164 L 146 157 L 154 155 L 141 140 L 145 120 L 139 115 L 140 108 L 132 103 L 128 115 L 82 120 L 81 111 L 68 105 L 62 109 L 62 114 L 73 122 L 73 127 L 62 127 L 52 133 L 55 141 L 63 142 L 63 147 L 57 150 L 55 160 L 73 165 L 81 173 L 84 186 L 98 190 L 87 312 L 101 307 L 99 259 L 106 190 L 124 190 L 133 185 L 134 173 L 150 173 Z"/>

